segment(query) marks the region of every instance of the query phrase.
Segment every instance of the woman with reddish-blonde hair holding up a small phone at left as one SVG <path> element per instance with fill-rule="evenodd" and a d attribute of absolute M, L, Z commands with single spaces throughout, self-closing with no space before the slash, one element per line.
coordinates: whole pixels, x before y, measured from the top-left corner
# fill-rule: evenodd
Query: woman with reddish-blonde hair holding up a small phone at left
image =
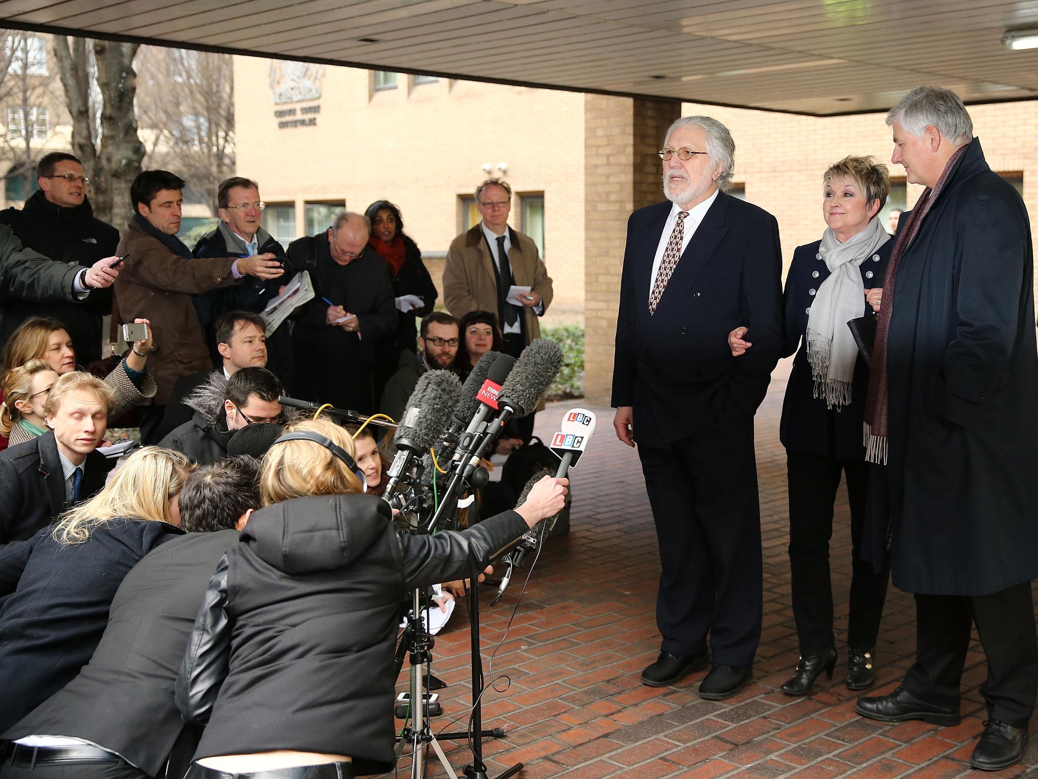
<path fill-rule="evenodd" d="M 134 320 L 147 324 L 146 319 Z M 108 409 L 108 419 L 115 420 L 136 405 L 155 397 L 155 376 L 147 370 L 147 353 L 152 349 L 152 328 L 148 337 L 131 345 L 130 351 L 115 369 L 104 377 L 115 393 L 115 402 Z M 3 367 L 10 371 L 30 359 L 43 359 L 64 376 L 76 368 L 76 349 L 64 325 L 50 317 L 29 317 L 10 334 L 3 349 Z M 12 445 L 13 446 L 13 445 Z"/>

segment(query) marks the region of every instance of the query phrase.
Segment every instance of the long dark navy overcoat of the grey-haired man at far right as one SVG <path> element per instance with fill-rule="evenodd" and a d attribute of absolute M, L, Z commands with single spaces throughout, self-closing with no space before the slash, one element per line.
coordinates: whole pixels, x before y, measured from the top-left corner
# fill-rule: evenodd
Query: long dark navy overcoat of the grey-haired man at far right
<path fill-rule="evenodd" d="M 894 285 L 886 472 L 901 590 L 983 595 L 1038 576 L 1033 262 L 1023 202 L 974 138 Z M 876 560 L 885 528 L 872 531 Z"/>

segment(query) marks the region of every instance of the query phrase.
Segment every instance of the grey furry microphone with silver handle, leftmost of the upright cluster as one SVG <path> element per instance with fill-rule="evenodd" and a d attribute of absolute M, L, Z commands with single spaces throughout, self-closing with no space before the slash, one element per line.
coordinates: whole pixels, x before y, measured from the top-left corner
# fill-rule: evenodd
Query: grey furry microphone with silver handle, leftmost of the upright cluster
<path fill-rule="evenodd" d="M 430 371 L 418 378 L 397 425 L 393 444 L 397 456 L 389 466 L 389 481 L 383 494 L 390 500 L 414 458 L 436 444 L 446 427 L 450 409 L 458 403 L 461 382 L 450 371 Z"/>

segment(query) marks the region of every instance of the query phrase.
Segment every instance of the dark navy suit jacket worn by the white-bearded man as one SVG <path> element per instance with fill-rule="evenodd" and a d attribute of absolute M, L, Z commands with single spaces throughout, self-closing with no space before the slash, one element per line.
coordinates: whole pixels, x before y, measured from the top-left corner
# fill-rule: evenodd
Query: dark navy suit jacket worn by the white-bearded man
<path fill-rule="evenodd" d="M 723 192 L 649 313 L 650 276 L 671 203 L 627 222 L 612 405 L 633 406 L 634 439 L 664 448 L 721 413 L 753 417 L 783 348 L 782 251 L 771 214 Z M 728 334 L 748 327 L 733 357 Z"/>

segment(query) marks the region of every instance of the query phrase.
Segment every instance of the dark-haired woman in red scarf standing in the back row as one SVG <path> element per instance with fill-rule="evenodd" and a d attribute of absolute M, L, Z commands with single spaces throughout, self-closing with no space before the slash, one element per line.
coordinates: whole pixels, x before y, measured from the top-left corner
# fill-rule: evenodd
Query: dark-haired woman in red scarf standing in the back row
<path fill-rule="evenodd" d="M 400 368 L 401 353 L 413 356 L 418 320 L 432 313 L 438 293 L 418 245 L 404 233 L 400 208 L 389 200 L 376 200 L 364 216 L 372 222 L 367 242 L 385 260 L 397 298 L 397 331 L 375 347 L 375 397 L 380 398 L 386 382 Z"/>

